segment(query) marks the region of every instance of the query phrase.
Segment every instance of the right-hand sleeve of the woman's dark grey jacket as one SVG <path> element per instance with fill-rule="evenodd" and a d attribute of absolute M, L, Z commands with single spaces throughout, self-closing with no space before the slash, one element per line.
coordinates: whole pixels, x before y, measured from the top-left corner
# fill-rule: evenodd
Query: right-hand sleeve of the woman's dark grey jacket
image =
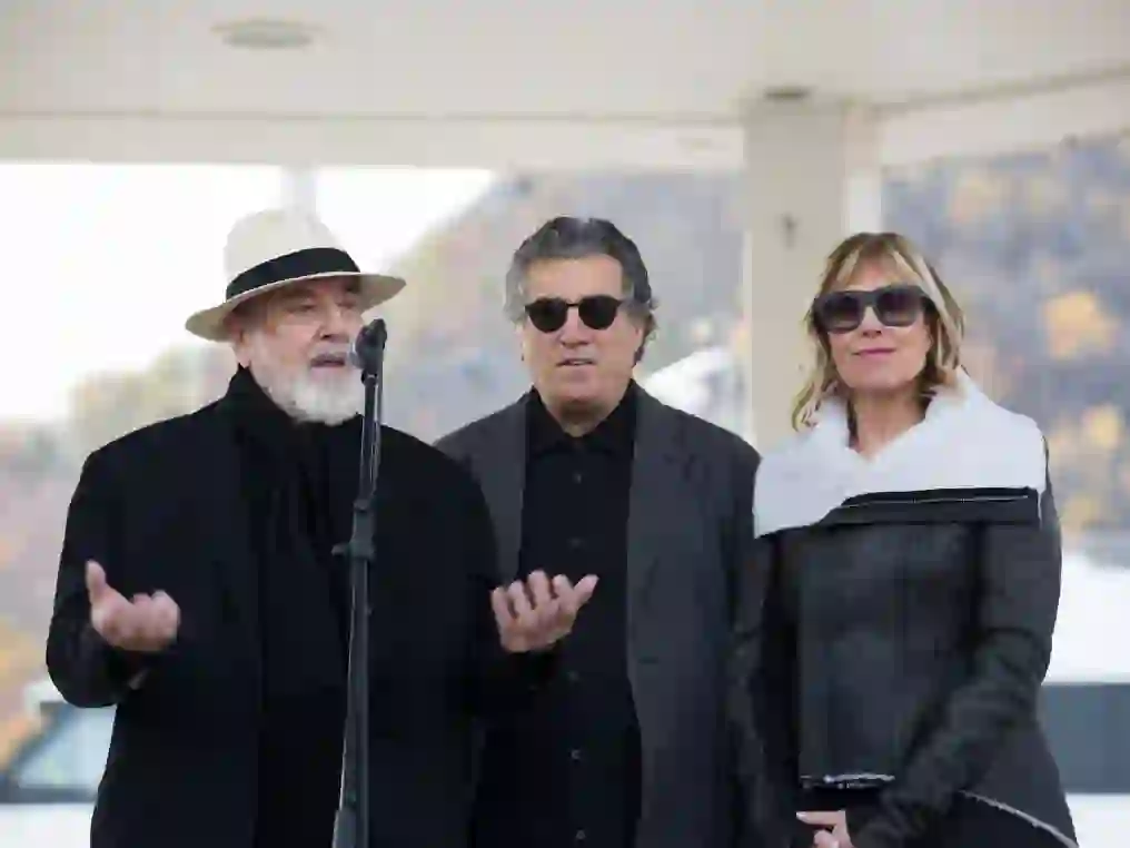
<path fill-rule="evenodd" d="M 973 673 L 880 795 L 875 814 L 852 834 L 857 848 L 896 848 L 925 833 L 956 793 L 984 772 L 1008 730 L 1033 715 L 1060 597 L 1060 528 L 1050 479 L 1040 511 L 1038 522 L 982 528 Z"/>

